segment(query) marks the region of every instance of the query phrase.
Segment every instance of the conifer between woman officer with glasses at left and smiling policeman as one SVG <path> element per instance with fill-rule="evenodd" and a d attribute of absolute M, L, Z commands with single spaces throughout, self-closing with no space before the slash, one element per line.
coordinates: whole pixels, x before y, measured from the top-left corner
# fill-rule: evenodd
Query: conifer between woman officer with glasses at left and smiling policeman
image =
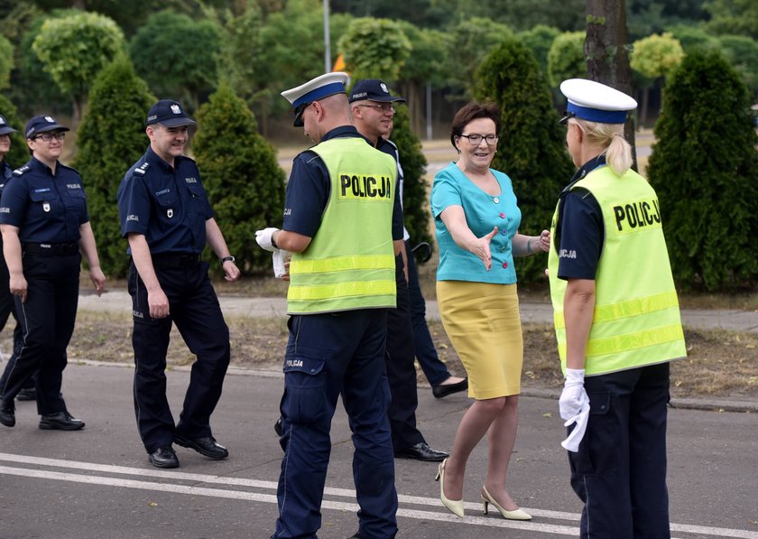
<path fill-rule="evenodd" d="M 147 148 L 144 118 L 154 101 L 131 60 L 120 55 L 97 75 L 77 131 L 73 166 L 87 192 L 100 266 L 111 277 L 124 277 L 129 271 L 116 192 L 125 172 Z"/>

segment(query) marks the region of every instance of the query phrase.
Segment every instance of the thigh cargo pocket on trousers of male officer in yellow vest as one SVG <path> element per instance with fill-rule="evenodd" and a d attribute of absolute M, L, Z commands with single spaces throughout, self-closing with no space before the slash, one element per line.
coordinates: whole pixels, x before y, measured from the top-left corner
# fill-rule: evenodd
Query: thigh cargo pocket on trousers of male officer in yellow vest
<path fill-rule="evenodd" d="M 318 423 L 326 419 L 326 358 L 303 354 L 284 358 L 282 414 L 292 423 Z"/>

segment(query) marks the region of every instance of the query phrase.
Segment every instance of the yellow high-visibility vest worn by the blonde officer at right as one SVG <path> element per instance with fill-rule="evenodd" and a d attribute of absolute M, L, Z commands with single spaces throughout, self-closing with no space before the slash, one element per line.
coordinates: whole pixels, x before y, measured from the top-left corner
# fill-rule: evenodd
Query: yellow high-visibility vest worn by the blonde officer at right
<path fill-rule="evenodd" d="M 577 181 L 573 189 L 591 192 L 603 214 L 605 240 L 595 286 L 596 305 L 587 339 L 586 376 L 684 358 L 679 299 L 661 227 L 658 196 L 638 173 L 618 176 L 603 166 Z M 555 238 L 558 207 L 552 219 Z M 566 372 L 567 282 L 558 278 L 561 256 L 550 246 L 550 297 L 561 369 Z"/>

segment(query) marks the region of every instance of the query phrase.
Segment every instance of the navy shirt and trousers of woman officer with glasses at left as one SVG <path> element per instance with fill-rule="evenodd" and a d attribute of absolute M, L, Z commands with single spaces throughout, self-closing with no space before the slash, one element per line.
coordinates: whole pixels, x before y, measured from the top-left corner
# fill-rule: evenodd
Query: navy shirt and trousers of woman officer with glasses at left
<path fill-rule="evenodd" d="M 15 298 L 23 346 L 0 393 L 13 399 L 37 372 L 41 415 L 68 414 L 60 386 L 79 302 L 79 228 L 88 221 L 79 172 L 61 163 L 53 174 L 32 157 L 3 190 L 0 224 L 19 228 L 28 293 L 26 302 Z"/>

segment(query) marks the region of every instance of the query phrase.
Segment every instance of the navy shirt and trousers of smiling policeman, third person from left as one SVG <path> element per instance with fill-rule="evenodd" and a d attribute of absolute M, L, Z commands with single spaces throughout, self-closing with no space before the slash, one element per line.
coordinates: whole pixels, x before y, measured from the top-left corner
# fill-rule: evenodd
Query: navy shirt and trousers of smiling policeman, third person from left
<path fill-rule="evenodd" d="M 229 365 L 229 329 L 200 261 L 206 221 L 213 217 L 197 165 L 185 156 L 166 163 L 148 147 L 118 187 L 121 233 L 143 235 L 171 314 L 150 316 L 148 293 L 134 261 L 129 269 L 134 331 L 134 413 L 148 453 L 179 438 L 211 437 L 210 415 L 221 397 Z M 127 249 L 131 255 L 131 247 Z M 179 423 L 174 426 L 166 398 L 166 352 L 175 323 L 197 356 Z"/>

